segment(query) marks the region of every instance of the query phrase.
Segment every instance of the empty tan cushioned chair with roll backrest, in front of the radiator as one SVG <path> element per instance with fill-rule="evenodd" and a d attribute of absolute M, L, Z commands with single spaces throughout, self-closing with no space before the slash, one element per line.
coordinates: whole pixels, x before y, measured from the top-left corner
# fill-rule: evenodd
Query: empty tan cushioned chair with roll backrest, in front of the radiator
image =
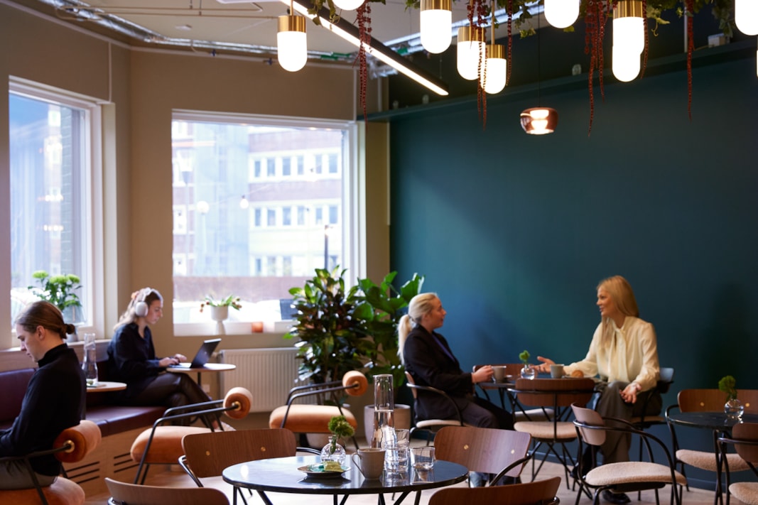
<path fill-rule="evenodd" d="M 323 384 L 309 384 L 297 386 L 290 390 L 287 396 L 287 405 L 274 409 L 268 418 L 269 428 L 287 428 L 295 433 L 329 433 L 329 420 L 334 416 L 345 416 L 345 419 L 353 428 L 358 428 L 356 416 L 348 409 L 332 405 L 301 405 L 294 404 L 293 400 L 300 397 L 315 394 L 330 394 L 334 403 L 338 403 L 337 392 L 344 391 L 352 397 L 358 397 L 368 390 L 368 379 L 361 372 L 352 370 L 343 375 L 342 381 L 324 382 Z M 352 441 L 358 448 L 358 442 L 353 437 Z"/>

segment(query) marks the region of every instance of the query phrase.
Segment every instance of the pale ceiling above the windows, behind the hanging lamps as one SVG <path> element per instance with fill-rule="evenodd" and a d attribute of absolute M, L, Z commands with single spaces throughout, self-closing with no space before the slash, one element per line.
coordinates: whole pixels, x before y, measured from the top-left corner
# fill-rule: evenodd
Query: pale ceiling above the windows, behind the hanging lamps
<path fill-rule="evenodd" d="M 287 2 L 287 3 L 284 3 Z M 276 55 L 277 17 L 287 14 L 289 0 L 20 0 L 61 20 L 100 33 L 120 33 L 138 45 L 180 46 L 196 51 L 247 52 Z M 325 2 L 324 2 L 325 3 Z M 453 23 L 465 22 L 466 2 L 453 2 Z M 338 14 L 339 11 L 338 11 Z M 355 23 L 355 11 L 342 17 Z M 371 3 L 371 35 L 402 52 L 421 50 L 418 9 L 403 0 Z M 312 58 L 352 63 L 356 47 L 309 21 Z M 498 35 L 500 36 L 500 35 Z"/>

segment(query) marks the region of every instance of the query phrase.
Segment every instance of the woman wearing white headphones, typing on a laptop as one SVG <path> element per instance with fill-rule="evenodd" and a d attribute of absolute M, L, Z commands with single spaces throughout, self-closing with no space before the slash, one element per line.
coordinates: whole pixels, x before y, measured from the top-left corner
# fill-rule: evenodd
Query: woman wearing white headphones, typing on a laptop
<path fill-rule="evenodd" d="M 162 316 L 163 296 L 146 287 L 132 293 L 126 312 L 114 327 L 108 344 L 108 375 L 127 383 L 126 391 L 119 392 L 121 401 L 174 407 L 211 400 L 189 375 L 164 373 L 169 365 L 186 361 L 186 356 L 155 357 L 149 325 L 155 325 Z M 218 428 L 217 419 L 208 423 Z"/>

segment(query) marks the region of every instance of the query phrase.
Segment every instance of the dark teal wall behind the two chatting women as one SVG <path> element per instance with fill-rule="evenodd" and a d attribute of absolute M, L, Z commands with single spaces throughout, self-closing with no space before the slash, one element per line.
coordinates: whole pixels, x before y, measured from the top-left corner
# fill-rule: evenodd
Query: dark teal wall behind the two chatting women
<path fill-rule="evenodd" d="M 391 118 L 392 268 L 426 275 L 440 330 L 467 368 L 584 357 L 597 282 L 622 274 L 685 387 L 735 375 L 758 387 L 758 79 L 753 58 L 547 95 L 556 133 L 528 136 L 537 105 L 509 89 L 487 103 Z M 547 86 L 546 86 L 547 87 Z"/>

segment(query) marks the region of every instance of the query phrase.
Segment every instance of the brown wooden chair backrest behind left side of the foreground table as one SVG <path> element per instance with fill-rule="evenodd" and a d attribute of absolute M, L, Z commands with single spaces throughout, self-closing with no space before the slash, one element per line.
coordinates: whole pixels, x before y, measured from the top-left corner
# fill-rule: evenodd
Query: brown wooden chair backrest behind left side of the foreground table
<path fill-rule="evenodd" d="M 298 451 L 321 454 L 321 450 L 295 447 L 295 434 L 287 428 L 187 434 L 182 439 L 182 448 L 179 465 L 199 488 L 203 487 L 202 478 L 221 475 L 227 466 L 237 463 L 295 456 Z M 238 493 L 247 503 L 236 487 L 234 501 Z"/>

